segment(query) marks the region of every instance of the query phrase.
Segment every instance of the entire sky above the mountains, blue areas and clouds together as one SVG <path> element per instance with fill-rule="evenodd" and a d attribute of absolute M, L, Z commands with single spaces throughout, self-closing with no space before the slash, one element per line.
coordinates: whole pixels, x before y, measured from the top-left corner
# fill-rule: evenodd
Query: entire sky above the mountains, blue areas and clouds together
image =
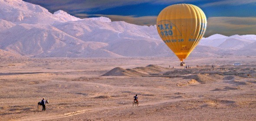
<path fill-rule="evenodd" d="M 49 12 L 64 10 L 80 17 L 105 16 L 112 21 L 155 25 L 160 11 L 177 3 L 199 6 L 207 16 L 206 36 L 256 34 L 256 0 L 23 0 Z M 216 23 L 218 21 L 219 23 Z M 238 28 L 236 28 L 238 27 Z M 228 32 L 226 32 L 228 31 Z"/>

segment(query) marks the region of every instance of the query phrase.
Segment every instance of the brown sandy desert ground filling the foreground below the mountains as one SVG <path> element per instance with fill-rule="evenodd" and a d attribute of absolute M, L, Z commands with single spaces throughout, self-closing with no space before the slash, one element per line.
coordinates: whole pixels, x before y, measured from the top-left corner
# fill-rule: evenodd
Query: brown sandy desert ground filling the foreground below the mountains
<path fill-rule="evenodd" d="M 190 69 L 177 57 L 0 61 L 0 121 L 256 120 L 256 57 L 189 57 Z"/>

